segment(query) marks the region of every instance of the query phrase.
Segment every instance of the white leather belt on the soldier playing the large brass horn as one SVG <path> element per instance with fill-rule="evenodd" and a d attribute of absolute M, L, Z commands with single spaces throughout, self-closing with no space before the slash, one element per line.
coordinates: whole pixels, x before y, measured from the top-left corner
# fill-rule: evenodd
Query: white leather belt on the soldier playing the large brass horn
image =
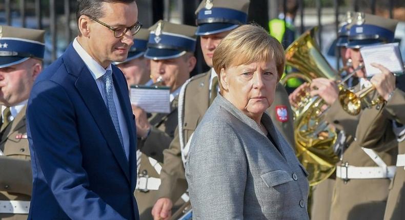
<path fill-rule="evenodd" d="M 383 167 L 356 167 L 356 166 L 337 166 L 336 177 L 344 180 L 350 179 L 387 179 L 393 178 L 395 166 Z"/>

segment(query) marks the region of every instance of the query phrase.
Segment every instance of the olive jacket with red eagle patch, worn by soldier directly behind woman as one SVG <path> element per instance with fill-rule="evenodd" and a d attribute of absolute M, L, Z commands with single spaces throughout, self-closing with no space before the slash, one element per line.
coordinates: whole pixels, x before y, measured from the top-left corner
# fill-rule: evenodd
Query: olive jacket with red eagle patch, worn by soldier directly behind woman
<path fill-rule="evenodd" d="M 210 80 L 211 71 L 208 71 L 191 78 L 189 83 L 185 85 L 187 87 L 185 87 L 183 129 L 181 130 L 185 144 L 189 141 L 190 136 L 194 133 L 202 116 L 204 116 L 209 107 Z M 287 122 L 281 122 L 277 119 L 275 106 L 279 105 L 286 106 L 287 108 Z M 286 137 L 287 141 L 290 144 L 294 144 L 293 113 L 288 100 L 288 94 L 280 84 L 277 86 L 275 98 L 272 106 L 268 109 L 268 113 L 274 125 Z M 159 187 L 159 197 L 168 197 L 172 201 L 177 201 L 188 188 L 184 164 L 181 158 L 178 127 L 169 149 L 164 150 L 164 162 L 160 173 L 161 185 Z"/>

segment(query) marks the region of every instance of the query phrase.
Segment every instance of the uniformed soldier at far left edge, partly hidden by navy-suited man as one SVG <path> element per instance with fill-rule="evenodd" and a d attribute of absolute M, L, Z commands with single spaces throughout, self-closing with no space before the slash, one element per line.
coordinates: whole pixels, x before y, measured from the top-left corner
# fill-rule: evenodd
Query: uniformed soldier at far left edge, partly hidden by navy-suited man
<path fill-rule="evenodd" d="M 44 31 L 0 26 L 0 219 L 28 217 L 32 172 L 25 110 L 44 51 Z"/>

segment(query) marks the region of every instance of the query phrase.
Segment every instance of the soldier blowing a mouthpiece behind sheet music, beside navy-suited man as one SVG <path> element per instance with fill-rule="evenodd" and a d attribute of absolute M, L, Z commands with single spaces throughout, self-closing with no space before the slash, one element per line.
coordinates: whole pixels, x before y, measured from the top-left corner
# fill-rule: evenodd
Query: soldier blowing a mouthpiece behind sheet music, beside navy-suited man
<path fill-rule="evenodd" d="M 133 106 L 136 116 L 138 149 L 138 184 L 135 197 L 140 219 L 152 219 L 151 210 L 158 199 L 159 174 L 163 165 L 163 150 L 169 147 L 177 127 L 177 96 L 181 85 L 190 78 L 196 58 L 195 27 L 160 20 L 149 29 L 145 58 L 151 62 L 154 83 L 170 87 L 170 113 L 153 113 L 147 118 L 143 109 Z M 140 155 L 139 155 L 140 153 Z M 175 207 L 183 205 L 179 200 Z"/>

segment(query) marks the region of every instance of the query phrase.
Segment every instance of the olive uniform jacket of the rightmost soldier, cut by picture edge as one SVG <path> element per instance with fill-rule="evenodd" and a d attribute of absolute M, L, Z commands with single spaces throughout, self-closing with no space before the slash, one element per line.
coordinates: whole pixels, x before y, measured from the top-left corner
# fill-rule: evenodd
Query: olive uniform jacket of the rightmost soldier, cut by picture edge
<path fill-rule="evenodd" d="M 392 130 L 393 120 L 405 124 L 405 93 L 396 89 L 391 99 L 381 108 L 364 111 L 357 127 L 356 138 L 364 147 L 373 147 L 382 142 L 389 144 L 397 137 Z M 405 153 L 405 141 L 398 143 L 398 154 Z M 384 219 L 405 219 L 405 170 L 397 167 L 390 186 Z"/>

